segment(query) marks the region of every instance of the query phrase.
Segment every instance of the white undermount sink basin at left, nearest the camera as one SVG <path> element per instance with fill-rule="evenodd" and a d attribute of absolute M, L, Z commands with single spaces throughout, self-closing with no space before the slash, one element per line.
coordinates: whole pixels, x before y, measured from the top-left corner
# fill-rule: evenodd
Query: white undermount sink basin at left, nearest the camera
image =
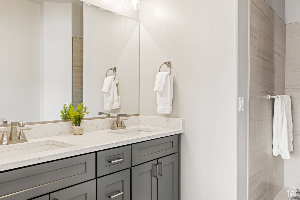
<path fill-rule="evenodd" d="M 20 143 L 15 145 L 2 146 L 0 148 L 0 159 L 10 158 L 14 156 L 22 156 L 43 151 L 50 151 L 60 148 L 71 147 L 74 145 L 55 140 L 46 140 L 41 142 Z"/>

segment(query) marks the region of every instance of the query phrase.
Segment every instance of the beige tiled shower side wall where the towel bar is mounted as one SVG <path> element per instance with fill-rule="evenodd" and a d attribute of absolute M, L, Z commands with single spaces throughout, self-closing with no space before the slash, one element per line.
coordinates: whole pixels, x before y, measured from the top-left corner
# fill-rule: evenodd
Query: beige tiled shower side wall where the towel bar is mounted
<path fill-rule="evenodd" d="M 274 99 L 285 93 L 285 23 L 264 0 L 250 14 L 250 200 L 274 200 L 283 187 L 284 162 L 272 155 Z"/>

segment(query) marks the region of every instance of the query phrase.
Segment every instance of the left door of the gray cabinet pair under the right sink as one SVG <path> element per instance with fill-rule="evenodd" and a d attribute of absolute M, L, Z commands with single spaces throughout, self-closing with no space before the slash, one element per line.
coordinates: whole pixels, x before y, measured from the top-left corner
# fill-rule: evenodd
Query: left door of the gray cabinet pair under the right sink
<path fill-rule="evenodd" d="M 132 200 L 157 200 L 157 160 L 131 168 Z"/>

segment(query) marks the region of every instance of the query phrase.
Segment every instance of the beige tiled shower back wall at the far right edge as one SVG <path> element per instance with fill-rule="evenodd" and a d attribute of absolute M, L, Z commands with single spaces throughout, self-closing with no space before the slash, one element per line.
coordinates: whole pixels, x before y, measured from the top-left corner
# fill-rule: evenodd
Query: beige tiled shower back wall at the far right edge
<path fill-rule="evenodd" d="M 300 22 L 286 25 L 286 94 L 291 96 L 293 145 L 285 160 L 284 186 L 300 189 Z"/>

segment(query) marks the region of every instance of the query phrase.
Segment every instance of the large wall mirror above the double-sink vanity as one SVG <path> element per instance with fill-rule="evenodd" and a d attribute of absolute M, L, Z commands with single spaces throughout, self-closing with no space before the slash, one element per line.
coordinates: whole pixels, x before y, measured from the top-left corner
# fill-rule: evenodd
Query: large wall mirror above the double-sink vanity
<path fill-rule="evenodd" d="M 139 113 L 139 22 L 96 10 L 104 12 L 79 0 L 0 1 L 0 117 L 8 124 L 60 120 L 72 102 L 85 103 L 88 117 Z M 112 67 L 120 108 L 109 111 L 101 89 Z"/>

